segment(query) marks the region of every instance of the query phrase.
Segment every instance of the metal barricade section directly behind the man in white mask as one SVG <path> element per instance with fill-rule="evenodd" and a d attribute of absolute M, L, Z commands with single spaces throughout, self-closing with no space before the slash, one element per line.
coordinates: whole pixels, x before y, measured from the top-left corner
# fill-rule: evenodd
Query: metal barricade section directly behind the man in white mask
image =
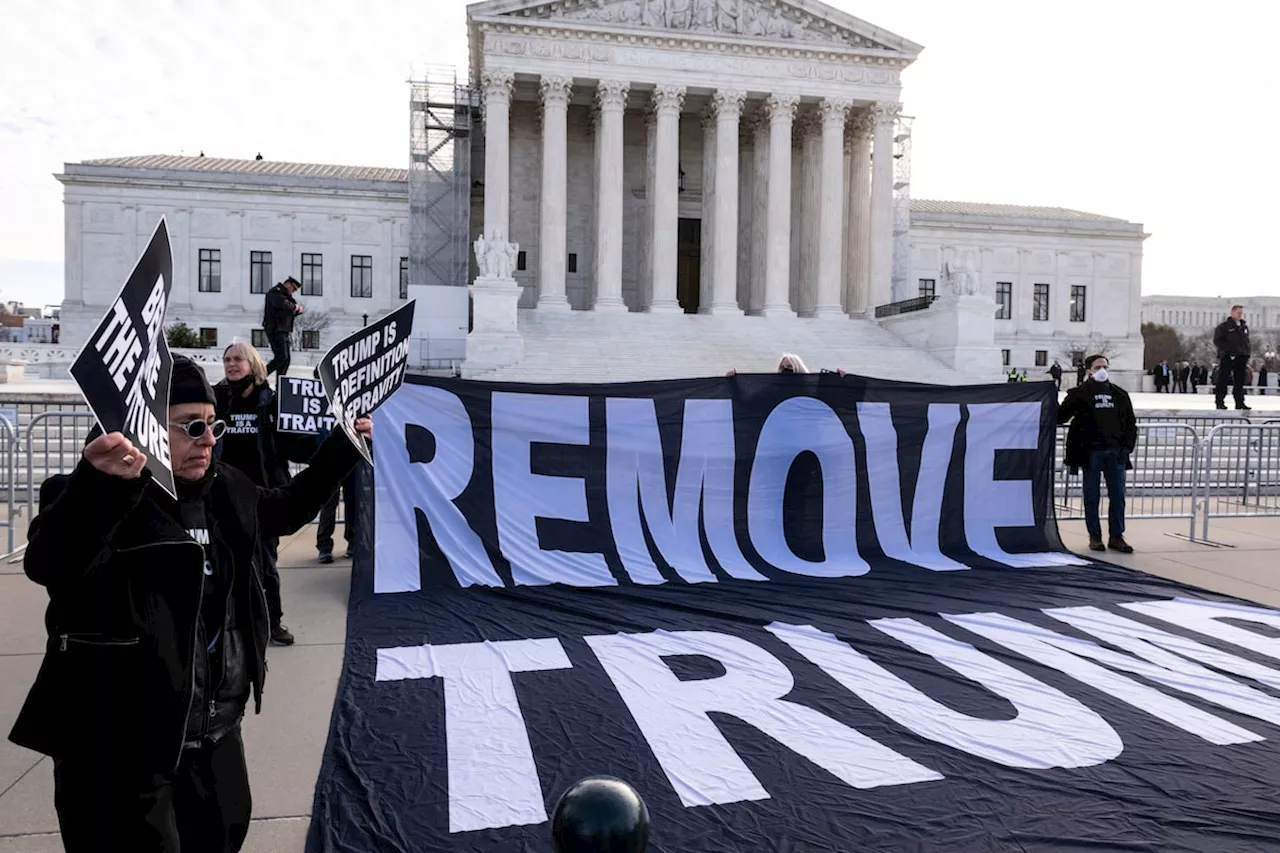
<path fill-rule="evenodd" d="M 1059 519 L 1084 517 L 1084 475 L 1071 474 L 1062 461 L 1065 430 L 1059 430 L 1059 476 L 1053 503 Z M 1144 421 L 1138 424 L 1138 444 L 1130 456 L 1133 470 L 1125 478 L 1125 517 L 1187 519 L 1188 538 L 1196 535 L 1197 473 L 1201 441 L 1189 424 Z M 1098 508 L 1105 519 L 1110 496 L 1103 485 Z"/>

